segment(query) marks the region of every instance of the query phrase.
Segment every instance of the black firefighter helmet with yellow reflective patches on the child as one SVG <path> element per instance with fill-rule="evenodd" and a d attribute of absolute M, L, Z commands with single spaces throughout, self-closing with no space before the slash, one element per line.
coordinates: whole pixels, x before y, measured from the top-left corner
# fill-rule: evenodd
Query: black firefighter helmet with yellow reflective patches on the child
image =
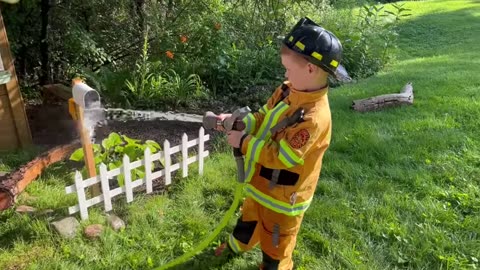
<path fill-rule="evenodd" d="M 350 81 L 342 60 L 342 44 L 330 31 L 308 17 L 300 19 L 283 39 L 289 49 L 305 56 L 311 63 L 321 67 L 339 81 Z"/>

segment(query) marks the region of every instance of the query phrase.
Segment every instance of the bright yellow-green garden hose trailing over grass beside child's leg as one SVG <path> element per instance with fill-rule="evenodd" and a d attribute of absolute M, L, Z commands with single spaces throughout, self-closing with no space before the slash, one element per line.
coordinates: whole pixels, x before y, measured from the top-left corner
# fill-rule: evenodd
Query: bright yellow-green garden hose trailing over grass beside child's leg
<path fill-rule="evenodd" d="M 232 216 L 235 214 L 235 210 L 237 209 L 238 205 L 240 204 L 240 200 L 242 199 L 242 193 L 243 193 L 244 185 L 245 184 L 243 184 L 243 183 L 237 183 L 237 187 L 235 188 L 235 196 L 233 197 L 232 205 L 228 209 L 228 211 L 225 214 L 225 216 L 223 217 L 223 219 L 220 221 L 220 224 L 218 224 L 218 226 L 215 228 L 215 230 L 207 238 L 205 238 L 202 242 L 200 242 L 200 244 L 198 244 L 198 246 L 196 246 L 193 250 L 183 254 L 182 256 L 176 258 L 173 261 L 170 261 L 169 263 L 167 263 L 165 265 L 162 265 L 162 266 L 156 268 L 156 270 L 165 270 L 165 269 L 168 269 L 170 267 L 173 267 L 173 266 L 179 265 L 181 263 L 184 263 L 184 262 L 188 261 L 190 258 L 192 258 L 193 256 L 197 255 L 197 253 L 199 253 L 200 251 L 205 249 L 208 246 L 208 244 L 210 244 L 210 242 L 212 242 L 213 239 L 215 239 L 215 237 L 217 237 L 217 235 L 223 230 L 223 228 L 225 228 L 225 226 L 227 226 L 228 221 L 230 221 Z"/>

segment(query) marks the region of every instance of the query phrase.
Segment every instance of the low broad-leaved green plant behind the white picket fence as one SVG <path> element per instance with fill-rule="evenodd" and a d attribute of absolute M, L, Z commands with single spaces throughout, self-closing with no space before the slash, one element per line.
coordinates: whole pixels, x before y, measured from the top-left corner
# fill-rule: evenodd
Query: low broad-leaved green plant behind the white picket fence
<path fill-rule="evenodd" d="M 105 164 L 109 170 L 120 168 L 122 166 L 124 155 L 127 155 L 131 161 L 142 159 L 147 147 L 152 154 L 161 150 L 160 145 L 152 140 L 147 140 L 145 143 L 141 144 L 140 140 L 131 139 L 126 135 L 119 135 L 115 132 L 110 133 L 110 135 L 102 141 L 101 145 L 93 144 L 92 147 L 97 170 L 98 165 L 102 163 Z M 77 149 L 70 156 L 70 160 L 73 161 L 83 161 L 83 159 L 83 148 Z M 84 168 L 82 172 L 86 175 L 86 168 Z M 144 166 L 132 170 L 132 179 L 143 178 L 144 176 Z M 118 183 L 120 186 L 123 186 L 123 175 L 118 176 Z"/>

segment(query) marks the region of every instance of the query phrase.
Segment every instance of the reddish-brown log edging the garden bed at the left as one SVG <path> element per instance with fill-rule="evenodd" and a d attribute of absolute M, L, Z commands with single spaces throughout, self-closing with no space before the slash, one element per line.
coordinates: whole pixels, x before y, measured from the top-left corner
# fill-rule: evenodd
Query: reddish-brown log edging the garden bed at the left
<path fill-rule="evenodd" d="M 80 148 L 79 141 L 57 146 L 42 153 L 15 172 L 0 177 L 0 211 L 10 208 L 17 196 L 48 166 L 64 160 Z"/>

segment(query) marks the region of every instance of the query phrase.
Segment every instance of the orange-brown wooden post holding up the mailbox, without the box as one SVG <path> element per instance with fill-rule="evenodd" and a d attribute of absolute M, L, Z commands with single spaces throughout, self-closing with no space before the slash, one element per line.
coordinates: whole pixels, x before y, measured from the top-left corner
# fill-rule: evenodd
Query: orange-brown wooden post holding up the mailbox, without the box
<path fill-rule="evenodd" d="M 76 105 L 77 111 L 77 129 L 80 133 L 80 141 L 82 142 L 85 167 L 87 167 L 88 176 L 95 177 L 97 176 L 97 169 L 95 168 L 95 157 L 93 156 L 93 147 L 90 139 L 89 130 L 85 127 L 85 119 L 83 115 L 83 108 Z M 91 188 L 91 193 L 93 197 L 100 195 L 101 187 L 99 184 L 95 184 Z"/>

